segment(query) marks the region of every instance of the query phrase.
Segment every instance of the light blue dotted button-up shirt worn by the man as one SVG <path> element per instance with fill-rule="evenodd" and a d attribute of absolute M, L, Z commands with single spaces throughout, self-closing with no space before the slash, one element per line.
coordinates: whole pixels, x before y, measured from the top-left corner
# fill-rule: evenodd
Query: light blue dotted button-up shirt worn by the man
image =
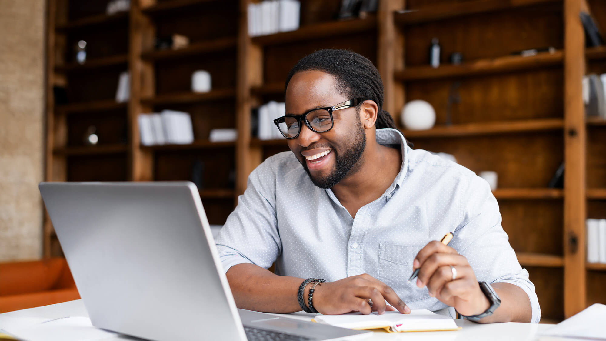
<path fill-rule="evenodd" d="M 410 149 L 398 130 L 378 129 L 376 140 L 401 146 L 402 167 L 387 191 L 355 218 L 330 189 L 311 183 L 290 151 L 253 170 L 216 239 L 224 271 L 239 263 L 269 268 L 275 262 L 276 274 L 302 279 L 331 282 L 367 273 L 411 309 L 438 311 L 447 305 L 406 281 L 419 250 L 453 232 L 449 246 L 467 257 L 478 280 L 524 289 L 532 322 L 539 322 L 534 285 L 509 245 L 488 183 L 459 164 Z"/>

